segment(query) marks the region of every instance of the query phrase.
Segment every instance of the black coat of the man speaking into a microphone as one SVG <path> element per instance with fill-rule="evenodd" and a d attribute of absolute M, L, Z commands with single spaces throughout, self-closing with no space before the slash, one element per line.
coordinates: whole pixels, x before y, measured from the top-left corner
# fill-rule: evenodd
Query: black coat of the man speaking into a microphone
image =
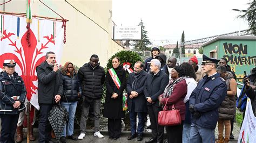
<path fill-rule="evenodd" d="M 63 95 L 62 80 L 60 79 L 60 72 L 53 71 L 46 61 L 36 68 L 38 77 L 38 103 L 39 104 L 53 104 L 55 103 L 56 95 Z"/>

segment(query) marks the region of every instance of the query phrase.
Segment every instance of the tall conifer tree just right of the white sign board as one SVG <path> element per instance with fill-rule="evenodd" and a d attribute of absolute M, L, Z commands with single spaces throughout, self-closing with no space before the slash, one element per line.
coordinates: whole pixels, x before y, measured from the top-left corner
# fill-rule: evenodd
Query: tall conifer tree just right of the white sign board
<path fill-rule="evenodd" d="M 147 45 L 152 45 L 150 40 L 147 39 L 147 31 L 145 30 L 144 23 L 141 22 L 139 23 L 138 26 L 142 26 L 142 40 L 136 40 L 134 41 L 134 49 L 139 50 L 139 51 L 150 51 L 150 47 L 147 47 Z"/>

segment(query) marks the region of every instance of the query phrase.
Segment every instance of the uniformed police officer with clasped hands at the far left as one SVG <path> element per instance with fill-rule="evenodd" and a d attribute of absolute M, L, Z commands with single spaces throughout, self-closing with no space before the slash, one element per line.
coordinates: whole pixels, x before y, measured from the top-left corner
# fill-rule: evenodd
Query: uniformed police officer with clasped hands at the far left
<path fill-rule="evenodd" d="M 4 60 L 0 74 L 1 142 L 15 142 L 19 112 L 25 109 L 26 89 L 22 77 L 15 72 L 15 65 L 14 60 Z"/>

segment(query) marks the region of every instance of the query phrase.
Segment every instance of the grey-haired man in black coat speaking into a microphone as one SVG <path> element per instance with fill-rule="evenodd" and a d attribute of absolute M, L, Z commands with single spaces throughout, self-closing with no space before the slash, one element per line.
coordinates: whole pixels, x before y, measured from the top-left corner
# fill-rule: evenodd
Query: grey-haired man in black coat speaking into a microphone
<path fill-rule="evenodd" d="M 51 142 L 48 113 L 60 101 L 63 87 L 58 73 L 59 66 L 53 52 L 47 52 L 45 61 L 36 68 L 38 77 L 38 103 L 40 106 L 39 142 Z"/>

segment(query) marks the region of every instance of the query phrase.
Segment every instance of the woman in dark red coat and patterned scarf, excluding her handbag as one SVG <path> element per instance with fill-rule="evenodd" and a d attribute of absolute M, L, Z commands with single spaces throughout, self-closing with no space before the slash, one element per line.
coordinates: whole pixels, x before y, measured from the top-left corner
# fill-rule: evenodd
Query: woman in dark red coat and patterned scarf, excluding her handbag
<path fill-rule="evenodd" d="M 182 142 L 183 121 L 185 120 L 186 106 L 184 98 L 187 94 L 187 84 L 184 78 L 185 71 L 181 66 L 175 66 L 171 71 L 171 80 L 164 90 L 164 94 L 159 96 L 159 103 L 166 105 L 167 110 L 172 110 L 172 106 L 179 110 L 181 124 L 165 126 L 168 142 Z"/>

